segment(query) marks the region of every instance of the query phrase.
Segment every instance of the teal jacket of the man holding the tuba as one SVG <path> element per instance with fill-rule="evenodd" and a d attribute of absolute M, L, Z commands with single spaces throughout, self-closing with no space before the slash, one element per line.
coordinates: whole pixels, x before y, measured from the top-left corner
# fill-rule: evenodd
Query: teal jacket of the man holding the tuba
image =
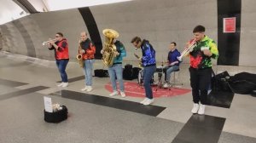
<path fill-rule="evenodd" d="M 123 43 L 119 42 L 118 40 L 113 43 L 116 46 L 116 50 L 119 52 L 119 55 L 117 55 L 114 60 L 113 64 L 115 63 L 122 63 L 123 57 L 126 56 L 125 46 Z"/>

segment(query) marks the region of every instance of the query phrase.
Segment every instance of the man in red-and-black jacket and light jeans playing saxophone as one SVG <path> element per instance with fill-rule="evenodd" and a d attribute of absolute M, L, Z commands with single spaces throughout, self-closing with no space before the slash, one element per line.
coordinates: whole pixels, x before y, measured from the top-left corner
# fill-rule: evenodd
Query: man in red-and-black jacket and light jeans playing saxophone
<path fill-rule="evenodd" d="M 96 54 L 96 47 L 92 41 L 87 37 L 87 32 L 82 31 L 79 40 L 79 54 L 84 60 L 84 77 L 85 87 L 82 91 L 90 92 L 92 90 L 92 70 L 95 62 L 94 54 Z"/>

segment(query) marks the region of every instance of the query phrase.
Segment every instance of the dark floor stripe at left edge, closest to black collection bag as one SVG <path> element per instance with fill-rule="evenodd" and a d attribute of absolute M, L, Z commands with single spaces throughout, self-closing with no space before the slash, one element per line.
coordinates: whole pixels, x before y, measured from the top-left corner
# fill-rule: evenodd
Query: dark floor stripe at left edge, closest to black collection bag
<path fill-rule="evenodd" d="M 19 90 L 19 91 L 12 92 L 12 93 L 9 93 L 9 94 L 1 94 L 0 95 L 0 100 L 7 100 L 7 99 L 10 99 L 10 98 L 13 98 L 13 97 L 17 97 L 17 96 L 20 96 L 20 95 L 23 95 L 23 94 L 30 94 L 30 93 L 33 93 L 33 92 L 36 92 L 36 91 L 39 91 L 39 90 L 43 90 L 43 89 L 49 89 L 49 87 L 37 86 L 37 87 L 30 88 L 30 89 Z"/>

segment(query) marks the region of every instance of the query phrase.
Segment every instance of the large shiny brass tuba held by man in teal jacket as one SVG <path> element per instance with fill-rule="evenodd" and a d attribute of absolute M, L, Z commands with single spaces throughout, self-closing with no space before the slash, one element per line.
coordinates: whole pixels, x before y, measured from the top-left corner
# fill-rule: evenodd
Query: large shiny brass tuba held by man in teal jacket
<path fill-rule="evenodd" d="M 115 45 L 113 44 L 113 39 L 119 37 L 119 33 L 112 29 L 104 29 L 102 33 L 105 36 L 105 42 L 103 47 L 102 61 L 106 66 L 113 65 L 113 59 L 116 56 L 117 52 Z"/>

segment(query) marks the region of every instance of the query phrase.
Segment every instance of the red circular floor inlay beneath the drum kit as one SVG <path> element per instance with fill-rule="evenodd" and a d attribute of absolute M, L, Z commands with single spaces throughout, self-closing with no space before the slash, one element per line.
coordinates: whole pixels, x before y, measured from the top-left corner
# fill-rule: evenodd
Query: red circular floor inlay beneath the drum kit
<path fill-rule="evenodd" d="M 119 83 L 117 83 L 119 85 Z M 125 82 L 125 94 L 126 96 L 132 96 L 132 97 L 145 97 L 145 89 L 143 86 L 132 83 L 132 82 Z M 105 85 L 105 89 L 107 89 L 109 92 L 113 92 L 112 85 L 109 82 Z M 119 86 L 118 86 L 119 89 Z M 159 89 L 157 86 L 152 87 L 153 90 L 153 96 L 154 97 L 169 97 L 169 96 L 176 96 L 176 95 L 182 95 L 187 94 L 191 90 L 190 89 L 180 89 L 180 88 L 172 88 L 169 89 Z"/>

